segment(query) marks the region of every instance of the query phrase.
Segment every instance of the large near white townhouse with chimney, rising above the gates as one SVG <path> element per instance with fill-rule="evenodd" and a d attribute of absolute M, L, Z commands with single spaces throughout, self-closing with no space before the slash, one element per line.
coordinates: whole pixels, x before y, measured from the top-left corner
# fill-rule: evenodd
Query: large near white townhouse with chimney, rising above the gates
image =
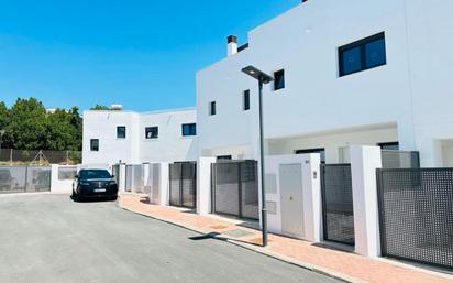
<path fill-rule="evenodd" d="M 228 56 L 197 73 L 201 156 L 258 160 L 257 81 L 267 155 L 321 153 L 347 163 L 349 145 L 419 151 L 453 166 L 453 2 L 310 0 L 228 39 Z"/>

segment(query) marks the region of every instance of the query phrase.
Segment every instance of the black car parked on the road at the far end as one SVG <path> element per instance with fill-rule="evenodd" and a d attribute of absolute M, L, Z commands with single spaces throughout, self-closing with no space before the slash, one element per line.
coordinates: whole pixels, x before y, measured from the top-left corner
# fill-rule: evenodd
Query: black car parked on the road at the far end
<path fill-rule="evenodd" d="M 118 184 L 107 170 L 80 170 L 73 184 L 73 199 L 117 199 Z"/>

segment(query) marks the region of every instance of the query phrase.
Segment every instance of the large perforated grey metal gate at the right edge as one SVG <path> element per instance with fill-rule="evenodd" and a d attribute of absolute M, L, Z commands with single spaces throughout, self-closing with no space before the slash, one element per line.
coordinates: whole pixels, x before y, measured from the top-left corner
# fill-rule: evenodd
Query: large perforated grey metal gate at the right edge
<path fill-rule="evenodd" d="M 378 170 L 385 257 L 453 268 L 453 168 Z"/>

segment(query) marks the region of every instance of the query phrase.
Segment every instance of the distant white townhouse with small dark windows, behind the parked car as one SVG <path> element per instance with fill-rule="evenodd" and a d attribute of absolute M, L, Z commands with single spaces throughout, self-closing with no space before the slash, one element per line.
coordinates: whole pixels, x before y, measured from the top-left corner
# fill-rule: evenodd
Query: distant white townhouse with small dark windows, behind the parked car
<path fill-rule="evenodd" d="M 194 108 L 84 112 L 84 164 L 142 164 L 198 157 Z"/>

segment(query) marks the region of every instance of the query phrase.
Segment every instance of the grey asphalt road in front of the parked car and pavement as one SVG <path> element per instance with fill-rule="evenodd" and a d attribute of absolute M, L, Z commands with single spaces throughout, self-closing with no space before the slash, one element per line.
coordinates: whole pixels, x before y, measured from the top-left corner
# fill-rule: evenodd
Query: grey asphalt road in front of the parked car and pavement
<path fill-rule="evenodd" d="M 115 203 L 0 196 L 0 282 L 336 282 L 197 236 Z"/>

